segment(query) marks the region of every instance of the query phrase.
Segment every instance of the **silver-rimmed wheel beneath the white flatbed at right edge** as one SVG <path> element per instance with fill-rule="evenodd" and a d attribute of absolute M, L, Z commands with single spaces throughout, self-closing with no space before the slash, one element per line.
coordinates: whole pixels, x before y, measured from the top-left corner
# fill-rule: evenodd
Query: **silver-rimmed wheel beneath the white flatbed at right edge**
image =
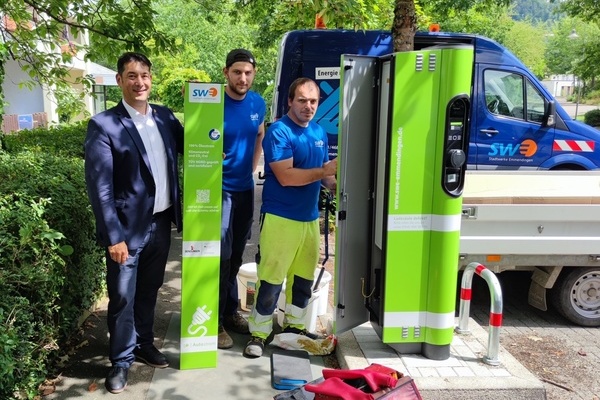
<path fill-rule="evenodd" d="M 581 326 L 600 326 L 600 269 L 569 268 L 550 292 L 556 310 Z"/>

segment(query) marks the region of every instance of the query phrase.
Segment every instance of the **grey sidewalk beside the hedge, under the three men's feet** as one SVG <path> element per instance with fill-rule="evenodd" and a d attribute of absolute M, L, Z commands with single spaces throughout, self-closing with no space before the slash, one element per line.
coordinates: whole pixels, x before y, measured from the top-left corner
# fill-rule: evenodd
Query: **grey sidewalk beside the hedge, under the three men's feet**
<path fill-rule="evenodd" d="M 106 303 L 86 320 L 85 337 L 68 361 L 69 367 L 57 382 L 56 391 L 46 399 L 103 399 L 120 396 L 127 400 L 143 399 L 272 399 L 280 391 L 271 387 L 270 354 L 242 356 L 247 335 L 232 333 L 234 347 L 219 350 L 216 368 L 179 370 L 179 322 L 181 302 L 181 235 L 173 231 L 173 243 L 167 262 L 165 283 L 160 290 L 155 335 L 156 346 L 170 361 L 165 369 L 154 369 L 135 362 L 129 370 L 128 386 L 120 395 L 104 387 L 108 372 L 108 335 Z M 251 251 L 248 254 L 253 254 Z M 311 357 L 313 377 L 321 376 L 323 357 Z"/>

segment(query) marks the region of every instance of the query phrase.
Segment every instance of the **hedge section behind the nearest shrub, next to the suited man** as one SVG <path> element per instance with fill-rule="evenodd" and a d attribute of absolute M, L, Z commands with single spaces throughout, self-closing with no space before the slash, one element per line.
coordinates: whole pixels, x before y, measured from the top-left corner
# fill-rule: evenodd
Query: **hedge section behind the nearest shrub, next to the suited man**
<path fill-rule="evenodd" d="M 0 155 L 0 193 L 24 193 L 49 198 L 46 219 L 65 235 L 73 254 L 65 257 L 67 285 L 60 298 L 61 332 L 68 335 L 81 311 L 90 307 L 103 288 L 103 253 L 95 243 L 95 225 L 81 158 L 42 152 Z"/>

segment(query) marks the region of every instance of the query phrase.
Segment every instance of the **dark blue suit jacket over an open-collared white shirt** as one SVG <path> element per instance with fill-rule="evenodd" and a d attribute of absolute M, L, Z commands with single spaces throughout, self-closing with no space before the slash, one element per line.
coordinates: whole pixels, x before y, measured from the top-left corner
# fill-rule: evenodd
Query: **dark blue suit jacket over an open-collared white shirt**
<path fill-rule="evenodd" d="M 167 153 L 171 220 L 181 231 L 177 153 L 183 150 L 183 126 L 168 108 L 151 107 Z M 98 243 L 106 247 L 125 241 L 135 251 L 152 221 L 156 187 L 142 138 L 122 102 L 88 123 L 85 180 Z"/>

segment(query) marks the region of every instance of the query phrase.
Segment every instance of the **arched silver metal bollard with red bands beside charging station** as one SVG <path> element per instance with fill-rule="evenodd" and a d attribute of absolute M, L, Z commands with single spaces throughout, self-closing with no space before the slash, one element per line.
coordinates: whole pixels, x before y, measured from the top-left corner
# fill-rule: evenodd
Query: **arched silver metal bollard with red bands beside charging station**
<path fill-rule="evenodd" d="M 481 276 L 488 284 L 491 296 L 490 328 L 488 334 L 487 355 L 483 362 L 489 365 L 499 365 L 498 350 L 500 348 L 500 327 L 502 326 L 502 288 L 496 274 L 483 265 L 472 262 L 465 267 L 460 285 L 460 307 L 458 312 L 457 333 L 469 333 L 469 311 L 471 308 L 471 283 L 473 274 Z"/>

